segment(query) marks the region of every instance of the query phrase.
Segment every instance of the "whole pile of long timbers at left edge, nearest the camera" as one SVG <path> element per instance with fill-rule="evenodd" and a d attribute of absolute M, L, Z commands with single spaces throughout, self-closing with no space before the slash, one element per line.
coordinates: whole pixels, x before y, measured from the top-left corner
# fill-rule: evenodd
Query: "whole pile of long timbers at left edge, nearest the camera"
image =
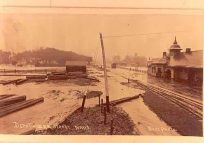
<path fill-rule="evenodd" d="M 43 97 L 26 100 L 26 96 L 17 96 L 15 94 L 0 95 L 0 117 L 28 108 L 43 101 Z"/>

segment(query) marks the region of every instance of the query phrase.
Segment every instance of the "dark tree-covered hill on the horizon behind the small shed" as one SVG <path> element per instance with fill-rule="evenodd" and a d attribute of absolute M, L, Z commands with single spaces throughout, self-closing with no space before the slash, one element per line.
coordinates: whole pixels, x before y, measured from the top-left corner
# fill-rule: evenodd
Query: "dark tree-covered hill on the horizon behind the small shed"
<path fill-rule="evenodd" d="M 33 51 L 24 51 L 21 53 L 6 53 L 0 51 L 4 55 L 5 60 L 0 60 L 3 64 L 17 64 L 17 65 L 35 65 L 35 66 L 64 66 L 67 60 L 71 61 L 92 61 L 91 57 L 80 55 L 72 51 L 63 51 L 55 48 L 40 48 Z M 10 58 L 9 58 L 10 57 Z"/>

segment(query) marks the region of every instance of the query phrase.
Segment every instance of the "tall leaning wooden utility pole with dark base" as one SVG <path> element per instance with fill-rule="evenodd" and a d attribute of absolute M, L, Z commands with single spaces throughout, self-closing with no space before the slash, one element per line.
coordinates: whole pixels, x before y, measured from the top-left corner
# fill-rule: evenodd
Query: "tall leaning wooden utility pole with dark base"
<path fill-rule="evenodd" d="M 106 108 L 107 108 L 107 112 L 110 112 L 106 57 L 105 57 L 105 50 L 104 50 L 104 44 L 103 44 L 103 36 L 101 33 L 100 33 L 100 40 L 101 40 L 101 48 L 102 48 L 102 56 L 103 56 L 103 70 L 104 70 L 105 91 L 106 91 Z"/>

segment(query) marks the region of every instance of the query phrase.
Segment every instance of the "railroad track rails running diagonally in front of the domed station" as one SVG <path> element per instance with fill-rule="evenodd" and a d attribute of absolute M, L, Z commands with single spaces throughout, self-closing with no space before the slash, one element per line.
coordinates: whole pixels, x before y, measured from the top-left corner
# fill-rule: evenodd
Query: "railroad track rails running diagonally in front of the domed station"
<path fill-rule="evenodd" d="M 199 100 L 196 100 L 191 97 L 187 97 L 185 95 L 152 85 L 148 83 L 142 83 L 138 80 L 129 80 L 130 82 L 133 82 L 137 84 L 137 86 L 141 87 L 142 89 L 146 90 L 149 93 L 157 94 L 176 105 L 180 106 L 181 108 L 189 111 L 190 113 L 197 116 L 199 119 L 202 120 L 203 118 L 203 105 L 202 102 Z"/>

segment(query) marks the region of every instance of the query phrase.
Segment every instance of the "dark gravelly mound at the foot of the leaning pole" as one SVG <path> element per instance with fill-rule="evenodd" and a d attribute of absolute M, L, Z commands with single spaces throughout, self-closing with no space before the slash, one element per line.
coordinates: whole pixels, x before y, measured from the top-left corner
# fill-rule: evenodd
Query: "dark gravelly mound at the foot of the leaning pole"
<path fill-rule="evenodd" d="M 111 133 L 111 120 L 113 128 Z M 111 106 L 111 114 L 107 113 L 107 121 L 104 124 L 104 113 L 99 106 L 81 108 L 69 115 L 58 126 L 47 130 L 37 131 L 34 134 L 43 135 L 137 135 L 134 131 L 134 123 L 129 115 L 119 107 Z"/>

